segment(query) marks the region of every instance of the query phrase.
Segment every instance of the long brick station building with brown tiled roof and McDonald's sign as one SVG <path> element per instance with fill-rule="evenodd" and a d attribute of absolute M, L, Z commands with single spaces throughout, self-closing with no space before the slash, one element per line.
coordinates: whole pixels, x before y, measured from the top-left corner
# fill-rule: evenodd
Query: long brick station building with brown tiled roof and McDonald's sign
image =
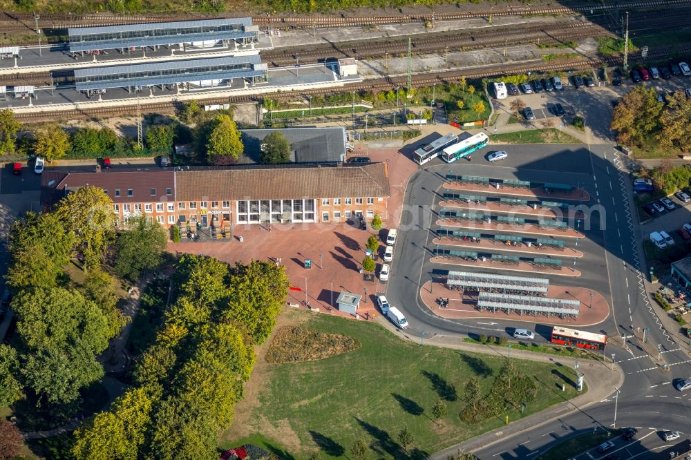
<path fill-rule="evenodd" d="M 46 171 L 41 204 L 97 186 L 113 200 L 119 226 L 146 215 L 165 227 L 204 229 L 267 222 L 346 222 L 386 219 L 390 195 L 386 163 L 244 165 L 227 168 Z"/>

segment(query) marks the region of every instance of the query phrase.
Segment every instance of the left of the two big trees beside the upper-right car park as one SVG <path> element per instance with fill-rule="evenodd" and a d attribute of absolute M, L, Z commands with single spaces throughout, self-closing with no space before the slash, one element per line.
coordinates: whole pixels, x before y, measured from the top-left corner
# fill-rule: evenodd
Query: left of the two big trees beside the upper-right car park
<path fill-rule="evenodd" d="M 654 88 L 636 86 L 614 108 L 610 128 L 617 131 L 617 142 L 630 147 L 642 146 L 659 132 L 663 108 Z"/>

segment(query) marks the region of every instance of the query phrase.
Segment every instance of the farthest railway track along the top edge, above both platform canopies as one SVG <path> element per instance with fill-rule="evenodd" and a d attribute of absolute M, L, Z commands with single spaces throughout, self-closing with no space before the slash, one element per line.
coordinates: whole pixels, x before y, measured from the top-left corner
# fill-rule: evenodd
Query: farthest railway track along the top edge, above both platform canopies
<path fill-rule="evenodd" d="M 573 15 L 574 13 L 625 10 L 627 8 L 670 8 L 673 6 L 691 5 L 691 0 L 641 0 L 627 1 L 615 4 L 583 4 L 579 6 L 533 8 L 531 6 L 507 6 L 506 8 L 491 8 L 476 12 L 459 11 L 426 15 L 386 15 L 386 16 L 346 16 L 346 15 L 312 15 L 312 16 L 255 16 L 255 24 L 265 28 L 312 28 L 312 27 L 346 27 L 346 26 L 375 26 L 390 23 L 450 21 L 453 19 L 472 19 L 475 17 L 499 17 L 518 15 Z M 149 23 L 164 21 L 185 21 L 191 19 L 215 19 L 233 17 L 231 15 L 72 15 L 45 13 L 40 15 L 40 28 L 68 28 L 108 26 L 127 23 Z M 34 28 L 35 21 L 31 13 L 3 11 L 0 20 L 23 23 L 28 28 Z"/>

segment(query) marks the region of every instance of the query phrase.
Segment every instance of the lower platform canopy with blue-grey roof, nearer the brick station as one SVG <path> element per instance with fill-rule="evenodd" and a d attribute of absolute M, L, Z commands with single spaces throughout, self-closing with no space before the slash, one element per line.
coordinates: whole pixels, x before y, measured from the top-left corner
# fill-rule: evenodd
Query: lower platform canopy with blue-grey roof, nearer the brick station
<path fill-rule="evenodd" d="M 218 86 L 233 79 L 263 81 L 266 73 L 259 55 L 246 55 L 81 68 L 75 70 L 75 85 L 78 91 L 165 84 Z"/>

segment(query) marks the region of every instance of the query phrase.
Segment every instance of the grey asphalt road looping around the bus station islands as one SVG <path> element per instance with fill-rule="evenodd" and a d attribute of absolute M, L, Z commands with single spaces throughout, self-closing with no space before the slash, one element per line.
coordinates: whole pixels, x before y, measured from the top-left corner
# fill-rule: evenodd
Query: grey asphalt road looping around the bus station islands
<path fill-rule="evenodd" d="M 484 155 L 495 150 L 506 150 L 509 158 L 489 164 Z M 439 318 L 430 314 L 419 299 L 419 287 L 430 279 L 433 269 L 428 262 L 433 250 L 427 249 L 431 247 L 433 238 L 430 229 L 435 229 L 435 206 L 444 192 L 440 189 L 443 176 L 450 171 L 491 178 L 580 184 L 590 193 L 589 206 L 593 209 L 591 228 L 582 229 L 586 238 L 578 245 L 578 249 L 585 253 L 583 260 L 577 262 L 583 276 L 557 277 L 559 279 L 550 279 L 550 282 L 587 286 L 599 291 L 613 306 L 612 315 L 595 327 L 583 329 L 609 336 L 627 336 L 625 348 L 608 345 L 606 352 L 607 357 L 614 357 L 625 372 L 625 383 L 619 389 L 616 426 L 639 427 L 639 431 L 634 441 L 616 441 L 616 454 L 625 459 L 656 458 L 659 455 L 669 458 L 670 449 L 674 449 L 672 446 L 688 439 L 691 432 L 691 394 L 682 395 L 671 385 L 675 379 L 691 376 L 691 364 L 683 350 L 670 340 L 645 295 L 641 273 L 647 273 L 647 268 L 644 266 L 641 239 L 634 236 L 634 231 L 638 231 L 638 218 L 632 214 L 636 212 L 632 211 L 632 186 L 627 165 L 621 162 L 618 152 L 611 145 L 492 145 L 491 149 L 475 153 L 472 162 L 448 165 L 435 160 L 411 178 L 405 200 L 410 212 L 404 215 L 399 227 L 395 269 L 386 293 L 389 302 L 401 309 L 413 334 L 506 334 L 517 324 L 497 318 Z M 687 220 L 691 220 L 691 216 Z M 549 330 L 539 323 L 522 323 L 520 326 L 533 329 L 538 335 Z M 647 328 L 647 342 L 652 348 L 659 349 L 659 357 L 669 366 L 668 372 L 659 370 L 653 361 L 658 356 L 649 356 L 645 352 L 643 344 L 632 336 L 632 327 Z M 547 333 L 536 340 L 546 341 Z M 614 388 L 612 394 L 616 394 Z M 480 459 L 530 458 L 568 437 L 593 430 L 595 426 L 614 426 L 612 397 L 557 422 L 533 428 L 511 439 L 500 439 L 475 454 Z M 660 430 L 679 430 L 683 436 L 678 441 L 666 443 L 659 436 Z M 575 458 L 593 460 L 603 457 L 605 454 L 587 452 Z"/>

